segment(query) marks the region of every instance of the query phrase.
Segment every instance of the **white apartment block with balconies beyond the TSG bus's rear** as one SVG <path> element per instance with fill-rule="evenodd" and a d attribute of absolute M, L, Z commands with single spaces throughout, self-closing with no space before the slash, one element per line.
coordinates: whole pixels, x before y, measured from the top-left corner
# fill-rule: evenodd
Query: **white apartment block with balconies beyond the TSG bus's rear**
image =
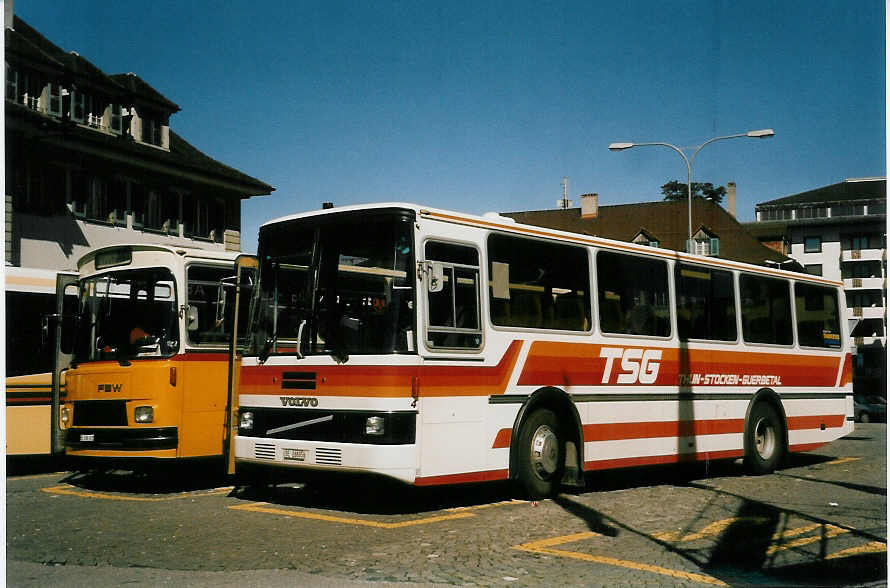
<path fill-rule="evenodd" d="M 812 274 L 843 281 L 854 387 L 887 389 L 887 180 L 848 179 L 762 202 L 747 228 Z"/>

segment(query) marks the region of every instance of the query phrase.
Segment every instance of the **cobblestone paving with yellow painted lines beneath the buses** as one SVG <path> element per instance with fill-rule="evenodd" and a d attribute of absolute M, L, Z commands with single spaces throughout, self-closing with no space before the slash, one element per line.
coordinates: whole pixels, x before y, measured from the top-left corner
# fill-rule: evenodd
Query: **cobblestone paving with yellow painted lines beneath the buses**
<path fill-rule="evenodd" d="M 886 479 L 885 425 L 769 476 L 734 463 L 602 472 L 585 492 L 541 502 L 503 484 L 421 491 L 356 477 L 277 488 L 12 477 L 7 580 L 235 585 L 215 575 L 226 571 L 268 586 L 886 585 Z"/>

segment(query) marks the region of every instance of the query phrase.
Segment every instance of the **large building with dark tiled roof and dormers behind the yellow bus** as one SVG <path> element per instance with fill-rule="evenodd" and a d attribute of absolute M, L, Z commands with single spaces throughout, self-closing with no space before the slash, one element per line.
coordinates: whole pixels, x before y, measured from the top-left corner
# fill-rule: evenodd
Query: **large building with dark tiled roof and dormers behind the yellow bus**
<path fill-rule="evenodd" d="M 241 200 L 273 188 L 176 134 L 179 107 L 139 76 L 5 9 L 6 265 L 73 270 L 113 243 L 240 250 Z"/>

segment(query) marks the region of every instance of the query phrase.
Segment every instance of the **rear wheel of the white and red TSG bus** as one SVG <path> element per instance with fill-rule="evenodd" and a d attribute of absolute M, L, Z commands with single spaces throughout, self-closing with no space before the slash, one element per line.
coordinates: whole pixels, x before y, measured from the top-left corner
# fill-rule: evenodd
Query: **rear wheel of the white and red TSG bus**
<path fill-rule="evenodd" d="M 744 461 L 753 474 L 772 473 L 788 455 L 787 423 L 779 395 L 759 390 L 745 415 Z"/>

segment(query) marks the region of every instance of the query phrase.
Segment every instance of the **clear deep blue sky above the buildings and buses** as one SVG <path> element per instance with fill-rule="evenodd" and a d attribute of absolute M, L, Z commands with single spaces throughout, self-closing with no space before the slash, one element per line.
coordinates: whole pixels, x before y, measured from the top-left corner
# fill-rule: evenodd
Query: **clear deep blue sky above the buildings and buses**
<path fill-rule="evenodd" d="M 466 212 L 555 207 L 563 176 L 601 205 L 685 181 L 666 148 L 707 146 L 694 179 L 738 185 L 738 213 L 884 176 L 879 0 L 225 2 L 17 0 L 16 13 L 182 111 L 171 127 L 276 187 L 271 218 L 359 202 Z"/>

